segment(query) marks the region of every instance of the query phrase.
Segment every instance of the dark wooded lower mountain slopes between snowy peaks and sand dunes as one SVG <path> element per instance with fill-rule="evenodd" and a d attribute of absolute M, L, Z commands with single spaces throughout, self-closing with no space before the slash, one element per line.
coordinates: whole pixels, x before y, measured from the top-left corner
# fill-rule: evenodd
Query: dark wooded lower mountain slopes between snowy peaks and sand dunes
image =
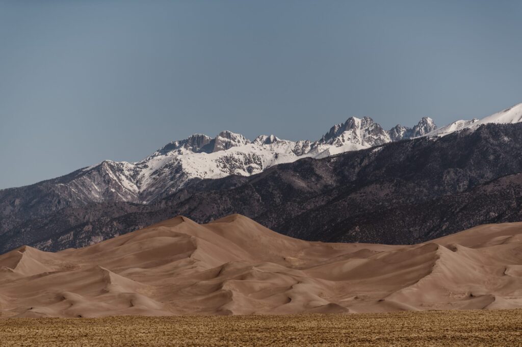
<path fill-rule="evenodd" d="M 0 251 L 81 247 L 177 214 L 231 213 L 304 240 L 412 244 L 522 220 L 521 172 L 522 124 L 480 125 L 201 180 L 148 204 L 66 207 L 5 231 Z"/>

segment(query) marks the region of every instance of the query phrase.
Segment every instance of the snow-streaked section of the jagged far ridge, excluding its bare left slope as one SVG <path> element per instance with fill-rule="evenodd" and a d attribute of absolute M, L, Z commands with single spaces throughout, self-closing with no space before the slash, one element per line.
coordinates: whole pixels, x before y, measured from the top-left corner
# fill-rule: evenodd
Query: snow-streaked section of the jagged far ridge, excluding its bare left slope
<path fill-rule="evenodd" d="M 403 127 L 405 131 L 394 136 L 394 140 L 418 136 L 434 127 L 431 118 L 424 117 L 413 128 Z M 87 200 L 146 204 L 177 192 L 194 180 L 250 176 L 304 157 L 324 158 L 383 145 L 392 141 L 390 131 L 369 117 L 350 117 L 313 142 L 283 140 L 274 135 L 261 135 L 250 141 L 231 131 L 222 131 L 215 138 L 195 134 L 170 142 L 139 162 L 103 161 L 87 167 L 67 185 L 76 194 L 85 194 Z"/>

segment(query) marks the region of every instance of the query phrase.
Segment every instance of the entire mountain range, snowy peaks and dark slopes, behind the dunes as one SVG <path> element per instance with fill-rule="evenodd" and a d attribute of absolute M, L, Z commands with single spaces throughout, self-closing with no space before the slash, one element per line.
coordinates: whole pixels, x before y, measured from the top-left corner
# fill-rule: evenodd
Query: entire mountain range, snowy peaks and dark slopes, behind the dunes
<path fill-rule="evenodd" d="M 0 190 L 0 251 L 85 246 L 180 213 L 208 222 L 239 212 L 306 240 L 381 243 L 421 242 L 495 218 L 515 221 L 519 180 L 508 175 L 522 172 L 521 121 L 518 104 L 442 128 L 428 117 L 390 130 L 351 117 L 313 142 L 273 135 L 250 141 L 230 131 L 193 135 L 136 163 L 103 161 Z M 448 216 L 457 218 L 466 211 L 462 204 L 476 204 L 480 194 L 493 199 L 492 192 L 513 196 L 458 223 L 437 214 L 454 206 Z M 421 206 L 435 210 L 426 216 Z"/>

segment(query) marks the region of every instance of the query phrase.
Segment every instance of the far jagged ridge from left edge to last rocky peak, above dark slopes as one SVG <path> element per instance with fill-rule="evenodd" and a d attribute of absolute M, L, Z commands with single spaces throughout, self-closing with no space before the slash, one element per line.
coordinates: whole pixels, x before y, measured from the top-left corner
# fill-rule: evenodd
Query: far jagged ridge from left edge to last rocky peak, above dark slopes
<path fill-rule="evenodd" d="M 394 140 L 426 133 L 435 125 L 425 117 L 411 129 L 397 127 L 406 130 Z M 250 141 L 231 131 L 215 138 L 192 135 L 136 163 L 105 160 L 53 180 L 0 190 L 0 235 L 64 208 L 101 202 L 150 204 L 206 178 L 250 176 L 300 158 L 370 148 L 392 141 L 390 134 L 371 118 L 351 117 L 314 142 L 281 140 L 274 135 Z"/>

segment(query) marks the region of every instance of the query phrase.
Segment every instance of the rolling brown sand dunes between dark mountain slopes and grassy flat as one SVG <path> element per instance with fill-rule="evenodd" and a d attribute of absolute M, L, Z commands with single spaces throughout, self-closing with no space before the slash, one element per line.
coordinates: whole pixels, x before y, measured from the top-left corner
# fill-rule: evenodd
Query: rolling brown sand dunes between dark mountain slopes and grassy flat
<path fill-rule="evenodd" d="M 176 217 L 81 249 L 0 256 L 0 317 L 522 307 L 522 223 L 412 246 L 296 240 Z"/>

